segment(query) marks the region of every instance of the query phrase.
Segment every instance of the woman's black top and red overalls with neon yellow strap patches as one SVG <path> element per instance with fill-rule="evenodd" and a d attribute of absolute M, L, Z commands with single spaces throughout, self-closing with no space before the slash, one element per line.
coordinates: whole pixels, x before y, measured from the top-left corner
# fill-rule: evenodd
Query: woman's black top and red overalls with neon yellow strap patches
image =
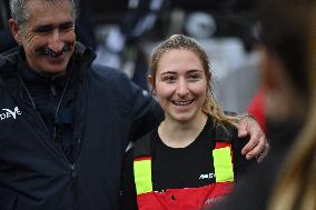
<path fill-rule="evenodd" d="M 121 209 L 162 210 L 210 207 L 229 193 L 235 177 L 250 162 L 240 151 L 230 124 L 208 120 L 187 148 L 165 146 L 157 129 L 136 142 L 127 156 L 122 178 Z"/>

